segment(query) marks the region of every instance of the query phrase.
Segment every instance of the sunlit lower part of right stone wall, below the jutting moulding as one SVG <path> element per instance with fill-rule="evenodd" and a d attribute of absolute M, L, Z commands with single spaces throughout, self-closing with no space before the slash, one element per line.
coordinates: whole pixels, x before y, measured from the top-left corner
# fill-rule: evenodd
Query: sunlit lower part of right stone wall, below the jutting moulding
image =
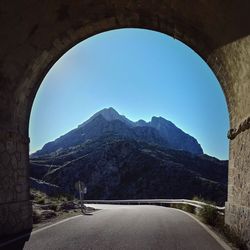
<path fill-rule="evenodd" d="M 250 130 L 231 141 L 225 223 L 250 249 Z"/>

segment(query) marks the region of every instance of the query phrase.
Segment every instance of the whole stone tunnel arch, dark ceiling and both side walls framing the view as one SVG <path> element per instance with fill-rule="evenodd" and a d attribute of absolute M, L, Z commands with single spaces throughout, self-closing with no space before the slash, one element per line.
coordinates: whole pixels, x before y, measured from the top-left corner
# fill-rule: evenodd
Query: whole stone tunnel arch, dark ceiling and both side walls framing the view
<path fill-rule="evenodd" d="M 5 178 L 5 185 L 0 184 L 0 217 L 6 215 L 1 228 L 13 233 L 31 226 L 27 219 L 31 217 L 28 124 L 44 76 L 78 42 L 103 31 L 130 27 L 179 39 L 218 77 L 227 99 L 232 139 L 226 223 L 250 239 L 249 10 L 249 0 L 1 1 L 0 178 Z M 15 218 L 13 209 L 21 209 L 23 218 Z M 248 220 L 242 219 L 243 212 Z M 17 221 L 22 222 L 18 227 L 7 226 Z"/>

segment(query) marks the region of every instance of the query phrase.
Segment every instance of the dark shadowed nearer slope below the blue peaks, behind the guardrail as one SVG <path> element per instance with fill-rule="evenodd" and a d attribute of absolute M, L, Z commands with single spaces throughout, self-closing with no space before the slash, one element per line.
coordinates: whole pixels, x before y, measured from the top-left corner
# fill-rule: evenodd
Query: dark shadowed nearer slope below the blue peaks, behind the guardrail
<path fill-rule="evenodd" d="M 75 193 L 82 180 L 88 199 L 193 198 L 223 204 L 227 162 L 119 135 L 100 136 L 55 154 L 33 157 L 31 175 Z"/>

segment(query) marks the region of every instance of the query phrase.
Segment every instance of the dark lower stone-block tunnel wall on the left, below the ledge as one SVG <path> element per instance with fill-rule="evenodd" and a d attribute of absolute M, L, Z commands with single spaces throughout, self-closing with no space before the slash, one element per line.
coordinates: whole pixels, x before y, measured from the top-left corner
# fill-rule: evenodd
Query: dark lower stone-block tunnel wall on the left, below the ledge
<path fill-rule="evenodd" d="M 2 129 L 0 159 L 0 236 L 4 236 L 32 227 L 27 139 Z"/>

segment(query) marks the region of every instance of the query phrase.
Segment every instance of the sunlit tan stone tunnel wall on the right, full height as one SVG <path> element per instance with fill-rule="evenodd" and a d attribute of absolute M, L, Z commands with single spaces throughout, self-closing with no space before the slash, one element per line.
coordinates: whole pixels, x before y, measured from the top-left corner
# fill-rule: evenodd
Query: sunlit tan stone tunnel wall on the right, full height
<path fill-rule="evenodd" d="M 230 93 L 228 200 L 225 223 L 250 249 L 250 36 L 215 51 L 222 87 Z"/>

